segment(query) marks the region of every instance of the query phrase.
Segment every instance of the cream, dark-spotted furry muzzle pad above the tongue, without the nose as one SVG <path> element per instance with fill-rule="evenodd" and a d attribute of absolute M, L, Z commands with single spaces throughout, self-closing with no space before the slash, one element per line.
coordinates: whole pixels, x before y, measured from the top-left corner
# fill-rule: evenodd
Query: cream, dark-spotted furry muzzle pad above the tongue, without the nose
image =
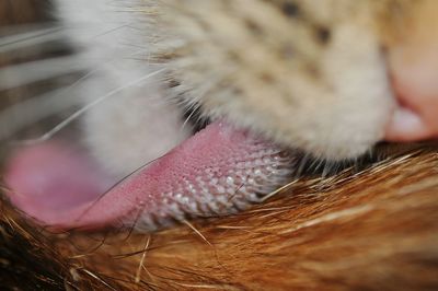
<path fill-rule="evenodd" d="M 323 159 L 356 158 L 383 139 L 395 101 L 378 8 L 170 2 L 164 23 L 182 38 L 171 63 L 207 114 Z"/>

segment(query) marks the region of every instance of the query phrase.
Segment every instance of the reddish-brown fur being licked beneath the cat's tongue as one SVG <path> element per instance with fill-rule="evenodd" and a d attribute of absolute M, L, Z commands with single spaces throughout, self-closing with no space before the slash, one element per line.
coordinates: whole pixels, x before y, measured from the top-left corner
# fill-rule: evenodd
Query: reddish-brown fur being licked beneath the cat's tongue
<path fill-rule="evenodd" d="M 44 266 L 42 282 L 79 289 L 433 290 L 437 166 L 435 150 L 410 152 L 299 181 L 238 216 L 151 234 L 55 235 L 3 203 L 0 247 L 32 249 L 14 251 L 35 263 L 15 277 L 0 271 L 1 281 L 26 287 L 20 278 L 35 280 L 32 268 Z M 0 253 L 0 266 L 16 266 Z"/>

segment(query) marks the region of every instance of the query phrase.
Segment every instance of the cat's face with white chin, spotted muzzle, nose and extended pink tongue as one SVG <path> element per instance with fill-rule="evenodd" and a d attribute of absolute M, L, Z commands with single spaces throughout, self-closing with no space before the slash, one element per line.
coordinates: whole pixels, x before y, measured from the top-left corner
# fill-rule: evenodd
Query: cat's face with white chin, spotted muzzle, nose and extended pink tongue
<path fill-rule="evenodd" d="M 80 225 L 129 217 L 147 228 L 228 213 L 283 185 L 298 155 L 355 159 L 384 139 L 436 135 L 434 62 L 413 58 L 418 44 L 435 56 L 424 33 L 434 1 L 110 2 L 58 3 L 89 70 L 68 91 L 87 154 L 55 130 L 10 162 L 12 188 L 32 194 L 12 200 L 49 224 L 85 212 Z M 183 116 L 194 108 L 212 125 L 168 153 L 192 135 Z"/>

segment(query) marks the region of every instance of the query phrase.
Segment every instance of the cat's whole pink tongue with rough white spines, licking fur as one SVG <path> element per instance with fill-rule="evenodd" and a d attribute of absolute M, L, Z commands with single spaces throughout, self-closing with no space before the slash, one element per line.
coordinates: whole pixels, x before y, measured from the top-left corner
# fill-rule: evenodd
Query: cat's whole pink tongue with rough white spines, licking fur
<path fill-rule="evenodd" d="M 108 179 L 89 161 L 56 141 L 21 149 L 5 175 L 11 201 L 56 229 L 151 230 L 257 201 L 287 182 L 295 158 L 218 121 L 104 195 Z"/>

